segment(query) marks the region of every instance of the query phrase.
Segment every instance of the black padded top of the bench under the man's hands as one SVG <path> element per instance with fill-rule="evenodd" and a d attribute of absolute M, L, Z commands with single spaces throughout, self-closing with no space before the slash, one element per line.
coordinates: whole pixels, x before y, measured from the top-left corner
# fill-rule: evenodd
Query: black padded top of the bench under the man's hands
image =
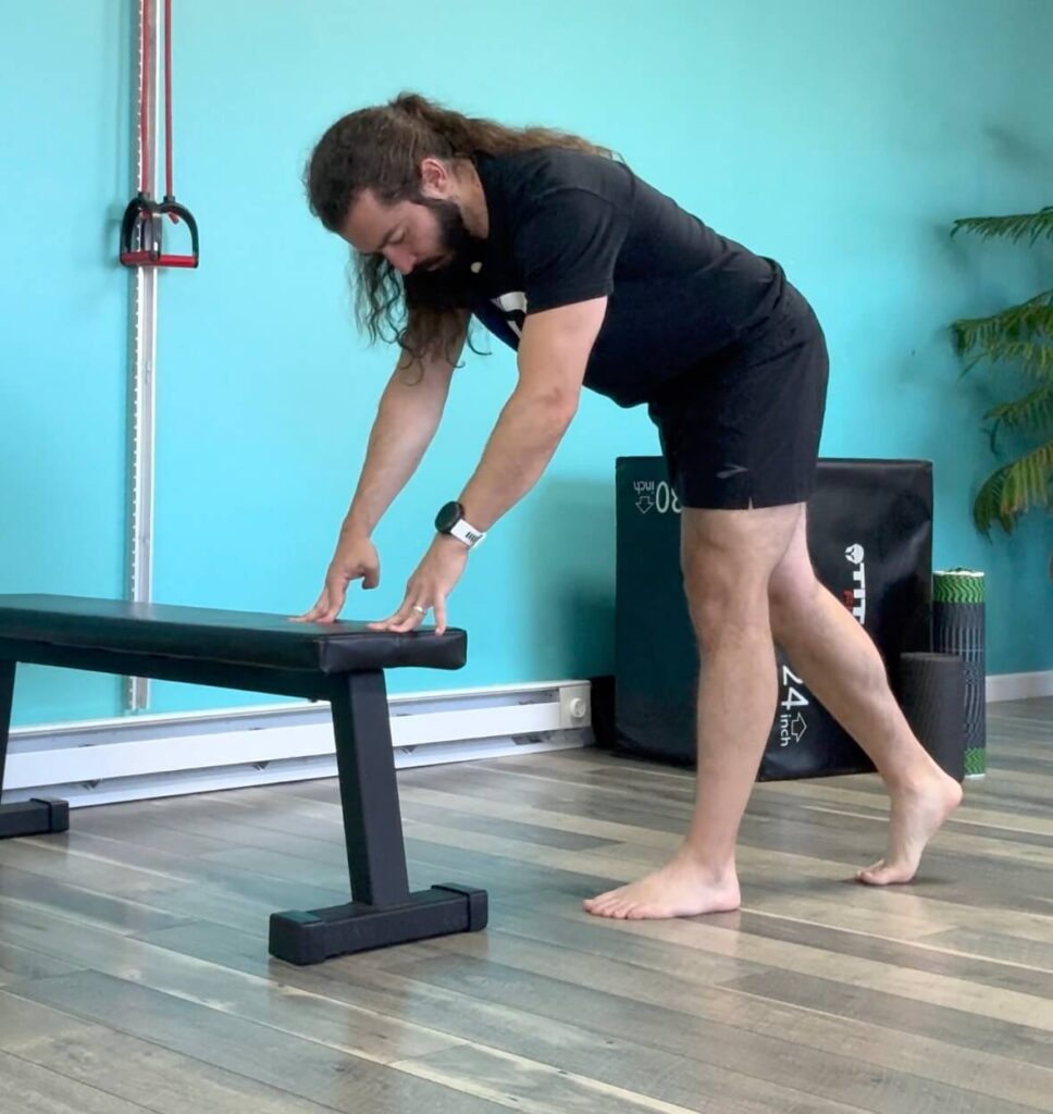
<path fill-rule="evenodd" d="M 365 623 L 293 623 L 286 615 L 79 596 L 0 594 L 0 639 L 78 649 L 120 649 L 313 670 L 325 674 L 422 666 L 459 670 L 468 636 L 425 627 L 410 634 L 370 631 Z"/>

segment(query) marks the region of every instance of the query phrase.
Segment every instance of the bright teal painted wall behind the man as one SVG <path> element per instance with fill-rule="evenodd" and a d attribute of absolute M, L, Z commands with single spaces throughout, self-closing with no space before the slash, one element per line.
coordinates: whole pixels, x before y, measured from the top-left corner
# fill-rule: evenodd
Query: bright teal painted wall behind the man
<path fill-rule="evenodd" d="M 0 14 L 0 592 L 119 595 L 125 580 L 130 0 Z M 155 598 L 295 613 L 314 599 L 391 354 L 350 323 L 345 254 L 300 173 L 335 116 L 420 89 L 617 148 L 721 232 L 787 266 L 827 330 L 828 456 L 935 461 L 937 566 L 988 574 L 989 670 L 1053 667 L 1053 526 L 984 541 L 995 383 L 958 380 L 946 323 L 1049 285 L 1053 253 L 950 241 L 954 217 L 1053 203 L 1044 0 L 206 0 L 175 3 L 176 186 L 203 265 L 160 281 Z M 472 358 L 378 532 L 387 614 L 435 508 L 513 387 Z M 642 411 L 589 397 L 528 499 L 452 597 L 459 674 L 393 691 L 613 665 L 613 461 L 652 453 Z M 259 703 L 154 686 L 153 711 Z M 118 682 L 22 670 L 16 722 L 113 715 Z"/>

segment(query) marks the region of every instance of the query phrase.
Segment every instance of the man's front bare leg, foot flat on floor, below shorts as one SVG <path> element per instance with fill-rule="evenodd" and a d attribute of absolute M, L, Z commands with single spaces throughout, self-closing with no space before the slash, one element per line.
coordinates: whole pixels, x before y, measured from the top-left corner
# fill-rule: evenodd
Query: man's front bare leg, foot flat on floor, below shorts
<path fill-rule="evenodd" d="M 694 814 L 670 863 L 587 900 L 589 912 L 637 919 L 738 908 L 735 841 L 778 700 L 768 585 L 802 510 L 684 511 L 684 587 L 705 661 Z"/>

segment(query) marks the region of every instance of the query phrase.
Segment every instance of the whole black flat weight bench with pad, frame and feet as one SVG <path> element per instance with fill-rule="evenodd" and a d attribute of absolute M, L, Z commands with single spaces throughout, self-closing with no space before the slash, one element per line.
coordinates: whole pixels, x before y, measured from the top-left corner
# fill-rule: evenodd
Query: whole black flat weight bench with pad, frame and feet
<path fill-rule="evenodd" d="M 370 631 L 364 623 L 0 594 L 0 789 L 19 662 L 324 700 L 332 705 L 347 905 L 271 915 L 270 951 L 293 964 L 486 927 L 487 896 L 462 886 L 411 893 L 383 671 L 458 670 L 467 635 Z M 65 831 L 65 801 L 0 804 L 0 838 Z"/>

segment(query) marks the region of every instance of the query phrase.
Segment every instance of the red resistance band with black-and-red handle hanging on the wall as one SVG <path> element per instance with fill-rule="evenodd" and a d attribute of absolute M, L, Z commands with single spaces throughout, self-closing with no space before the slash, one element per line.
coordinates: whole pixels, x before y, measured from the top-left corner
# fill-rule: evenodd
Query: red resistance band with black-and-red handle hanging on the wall
<path fill-rule="evenodd" d="M 159 204 L 154 201 L 150 183 L 153 167 L 149 162 L 150 101 L 149 43 L 153 27 L 149 19 L 150 0 L 139 0 L 139 25 L 143 36 L 142 85 L 139 88 L 139 149 L 142 152 L 139 192 L 128 203 L 120 222 L 120 262 L 125 266 L 196 267 L 198 262 L 197 222 L 191 211 L 175 199 L 172 173 L 172 0 L 165 0 L 165 196 Z M 191 255 L 165 254 L 162 250 L 164 217 L 177 224 L 181 219 L 191 233 Z"/>

